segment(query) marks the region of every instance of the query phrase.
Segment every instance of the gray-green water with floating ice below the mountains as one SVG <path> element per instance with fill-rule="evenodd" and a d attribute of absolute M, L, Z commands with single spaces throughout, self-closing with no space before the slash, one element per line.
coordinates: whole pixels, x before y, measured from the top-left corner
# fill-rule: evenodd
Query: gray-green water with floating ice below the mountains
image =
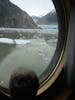
<path fill-rule="evenodd" d="M 33 69 L 38 77 L 50 63 L 57 45 L 57 25 L 40 29 L 0 28 L 0 85 L 8 87 L 17 67 Z"/>

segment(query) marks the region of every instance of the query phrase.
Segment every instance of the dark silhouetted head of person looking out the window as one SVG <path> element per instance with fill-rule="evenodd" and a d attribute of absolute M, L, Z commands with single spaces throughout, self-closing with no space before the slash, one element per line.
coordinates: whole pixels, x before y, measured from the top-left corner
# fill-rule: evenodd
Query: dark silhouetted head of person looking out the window
<path fill-rule="evenodd" d="M 13 100 L 35 98 L 38 88 L 38 78 L 32 70 L 18 68 L 10 77 L 9 89 Z"/>

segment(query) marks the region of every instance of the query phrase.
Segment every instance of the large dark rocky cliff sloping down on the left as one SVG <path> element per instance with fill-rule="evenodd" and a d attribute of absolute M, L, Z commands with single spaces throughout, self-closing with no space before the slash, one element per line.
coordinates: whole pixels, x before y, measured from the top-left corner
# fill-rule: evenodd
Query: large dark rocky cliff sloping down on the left
<path fill-rule="evenodd" d="M 0 0 L 0 27 L 37 28 L 33 19 L 9 0 Z"/>

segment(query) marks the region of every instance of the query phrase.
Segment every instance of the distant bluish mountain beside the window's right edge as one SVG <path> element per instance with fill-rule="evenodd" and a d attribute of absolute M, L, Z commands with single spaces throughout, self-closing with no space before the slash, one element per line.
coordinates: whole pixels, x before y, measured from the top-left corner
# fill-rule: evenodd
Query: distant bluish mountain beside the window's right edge
<path fill-rule="evenodd" d="M 38 21 L 37 24 L 57 24 L 57 14 L 55 10 L 52 10 L 50 13 L 47 15 L 41 17 Z"/>

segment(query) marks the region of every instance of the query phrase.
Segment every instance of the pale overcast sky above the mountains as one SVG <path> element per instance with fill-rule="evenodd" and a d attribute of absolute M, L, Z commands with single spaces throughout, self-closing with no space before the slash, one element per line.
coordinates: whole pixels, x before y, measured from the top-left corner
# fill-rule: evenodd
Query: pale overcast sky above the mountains
<path fill-rule="evenodd" d="M 54 9 L 52 0 L 10 0 L 30 16 L 43 16 Z"/>

